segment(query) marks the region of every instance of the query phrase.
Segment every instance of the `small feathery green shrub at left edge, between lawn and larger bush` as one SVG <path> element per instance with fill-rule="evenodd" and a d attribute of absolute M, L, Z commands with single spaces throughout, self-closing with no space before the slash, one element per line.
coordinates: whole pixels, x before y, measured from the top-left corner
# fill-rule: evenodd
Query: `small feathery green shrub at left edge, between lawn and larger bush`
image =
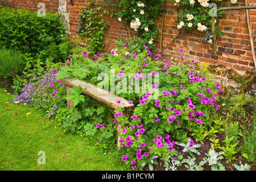
<path fill-rule="evenodd" d="M 11 75 L 22 72 L 24 68 L 23 55 L 13 49 L 0 49 L 0 77 L 9 78 Z"/>

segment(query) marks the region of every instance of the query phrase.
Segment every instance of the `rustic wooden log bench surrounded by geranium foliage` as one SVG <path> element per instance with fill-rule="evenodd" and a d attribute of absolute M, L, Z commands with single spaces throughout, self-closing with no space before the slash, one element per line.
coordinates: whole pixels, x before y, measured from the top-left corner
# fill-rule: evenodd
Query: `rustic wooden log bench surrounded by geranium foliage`
<path fill-rule="evenodd" d="M 125 111 L 123 111 L 123 115 L 125 117 L 129 117 L 130 112 L 132 110 L 134 110 L 134 105 L 129 104 L 125 98 L 119 97 L 119 96 L 115 95 L 114 93 L 103 90 L 93 84 L 90 84 L 90 83 L 87 83 L 87 82 L 84 82 L 82 80 L 78 80 L 75 78 L 67 78 L 65 80 L 62 80 L 62 83 L 66 85 L 67 94 L 70 93 L 70 88 L 74 88 L 74 87 L 77 87 L 80 85 L 83 90 L 82 93 L 85 94 L 86 96 L 89 96 L 89 97 L 93 98 L 94 100 L 101 102 L 115 110 L 122 107 L 125 110 Z M 117 104 L 117 100 L 120 100 L 121 102 L 119 104 Z M 70 109 L 73 106 L 74 106 L 73 102 L 71 100 L 68 100 L 67 101 L 67 109 Z M 121 139 L 119 134 L 121 133 L 121 131 L 123 129 L 125 129 L 125 126 L 122 126 L 121 122 L 117 122 L 117 136 L 118 136 L 117 137 L 117 148 L 118 148 L 118 150 L 121 150 L 121 146 L 118 141 L 119 141 L 119 139 Z"/>

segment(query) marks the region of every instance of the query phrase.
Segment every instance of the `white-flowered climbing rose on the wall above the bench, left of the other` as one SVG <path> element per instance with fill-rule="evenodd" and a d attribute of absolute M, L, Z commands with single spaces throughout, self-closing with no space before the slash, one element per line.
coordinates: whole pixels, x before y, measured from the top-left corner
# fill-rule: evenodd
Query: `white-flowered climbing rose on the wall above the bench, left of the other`
<path fill-rule="evenodd" d="M 153 41 L 157 38 L 158 28 L 155 26 L 155 20 L 163 13 L 160 9 L 165 0 L 149 0 L 144 3 L 140 1 L 117 1 L 119 7 L 117 15 L 122 24 L 127 24 L 133 28 L 137 36 L 141 38 L 140 46 L 154 48 Z M 138 42 L 139 43 L 139 42 Z"/>

